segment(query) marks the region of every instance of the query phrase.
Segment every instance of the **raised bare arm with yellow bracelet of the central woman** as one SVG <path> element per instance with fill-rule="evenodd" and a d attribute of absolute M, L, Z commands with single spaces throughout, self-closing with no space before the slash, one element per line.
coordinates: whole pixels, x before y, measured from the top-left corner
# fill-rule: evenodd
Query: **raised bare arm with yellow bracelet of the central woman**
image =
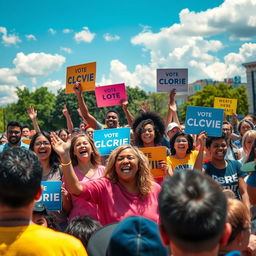
<path fill-rule="evenodd" d="M 73 195 L 79 196 L 83 191 L 83 186 L 76 177 L 75 171 L 71 163 L 71 158 L 69 154 L 71 137 L 69 136 L 68 141 L 64 142 L 55 133 L 51 133 L 51 141 L 53 149 L 60 157 L 61 166 L 68 191 Z"/>

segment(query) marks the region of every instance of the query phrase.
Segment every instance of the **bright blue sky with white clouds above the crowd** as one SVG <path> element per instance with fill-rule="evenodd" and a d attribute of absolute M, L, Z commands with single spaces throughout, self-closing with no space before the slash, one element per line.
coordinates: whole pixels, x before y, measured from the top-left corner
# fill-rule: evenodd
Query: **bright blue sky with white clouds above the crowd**
<path fill-rule="evenodd" d="M 0 2 L 0 105 L 65 86 L 66 67 L 97 62 L 97 85 L 156 89 L 157 68 L 189 82 L 240 75 L 256 61 L 256 0 Z"/>

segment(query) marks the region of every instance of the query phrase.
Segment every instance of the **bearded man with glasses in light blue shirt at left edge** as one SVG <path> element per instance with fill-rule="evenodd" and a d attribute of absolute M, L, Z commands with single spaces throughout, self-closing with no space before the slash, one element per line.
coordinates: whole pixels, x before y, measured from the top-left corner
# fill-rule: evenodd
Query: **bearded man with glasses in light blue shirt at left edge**
<path fill-rule="evenodd" d="M 8 142 L 0 146 L 0 152 L 10 147 L 22 147 L 28 149 L 29 146 L 21 141 L 22 126 L 19 122 L 11 121 L 7 125 Z"/>

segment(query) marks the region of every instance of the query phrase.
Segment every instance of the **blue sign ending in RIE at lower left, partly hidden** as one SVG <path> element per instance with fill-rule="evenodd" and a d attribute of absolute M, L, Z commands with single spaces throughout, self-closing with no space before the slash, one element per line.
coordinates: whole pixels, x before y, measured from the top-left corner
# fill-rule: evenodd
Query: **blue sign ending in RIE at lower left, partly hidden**
<path fill-rule="evenodd" d="M 62 208 L 61 181 L 42 181 L 43 191 L 38 202 L 43 203 L 49 211 L 59 211 Z"/>

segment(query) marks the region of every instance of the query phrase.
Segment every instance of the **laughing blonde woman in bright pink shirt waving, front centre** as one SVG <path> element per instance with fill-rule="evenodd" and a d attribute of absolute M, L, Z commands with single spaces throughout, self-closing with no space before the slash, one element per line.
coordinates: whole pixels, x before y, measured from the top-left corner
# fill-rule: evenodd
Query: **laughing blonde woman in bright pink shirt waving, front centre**
<path fill-rule="evenodd" d="M 70 193 L 98 205 L 102 225 L 119 222 L 128 216 L 144 216 L 158 222 L 158 194 L 161 187 L 154 182 L 148 160 L 131 145 L 112 151 L 103 178 L 81 184 L 69 155 L 69 142 L 52 134 L 52 145 L 59 154 L 66 185 Z"/>

